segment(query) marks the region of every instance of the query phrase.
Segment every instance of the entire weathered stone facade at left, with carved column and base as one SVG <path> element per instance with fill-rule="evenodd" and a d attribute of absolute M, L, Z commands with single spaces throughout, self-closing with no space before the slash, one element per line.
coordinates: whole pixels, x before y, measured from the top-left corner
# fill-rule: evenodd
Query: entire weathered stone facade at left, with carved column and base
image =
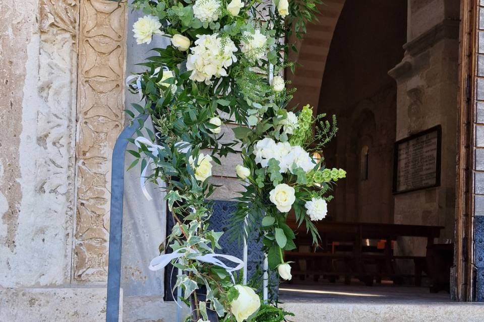
<path fill-rule="evenodd" d="M 2 321 L 105 318 L 125 13 L 106 0 L 0 1 Z"/>

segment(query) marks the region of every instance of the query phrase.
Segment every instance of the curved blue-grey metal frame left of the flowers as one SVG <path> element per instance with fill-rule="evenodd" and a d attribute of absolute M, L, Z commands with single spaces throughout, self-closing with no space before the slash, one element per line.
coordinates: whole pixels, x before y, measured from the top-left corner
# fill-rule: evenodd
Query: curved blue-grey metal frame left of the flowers
<path fill-rule="evenodd" d="M 145 121 L 148 115 L 140 117 Z M 137 124 L 134 120 L 133 124 Z M 136 125 L 126 127 L 117 137 L 111 162 L 111 211 L 109 225 L 109 263 L 107 271 L 106 322 L 119 321 L 121 282 L 121 242 L 123 233 L 123 196 L 125 188 L 125 152 Z"/>

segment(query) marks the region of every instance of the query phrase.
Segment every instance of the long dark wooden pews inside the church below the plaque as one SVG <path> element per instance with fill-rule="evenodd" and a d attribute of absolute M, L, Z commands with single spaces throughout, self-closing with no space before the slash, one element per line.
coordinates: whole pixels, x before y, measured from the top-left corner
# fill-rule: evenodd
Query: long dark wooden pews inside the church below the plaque
<path fill-rule="evenodd" d="M 322 238 L 322 246 L 314 252 L 291 251 L 285 252 L 287 261 L 297 263 L 293 275 L 304 278 L 306 275 L 314 275 L 315 280 L 323 276 L 330 282 L 334 282 L 340 276 L 344 276 L 345 283 L 349 284 L 351 277 L 356 277 L 366 285 L 373 285 L 374 279 L 381 282 L 382 278 L 391 278 L 395 284 L 401 284 L 406 277 L 413 277 L 415 285 L 421 285 L 422 273 L 430 275 L 438 271 L 438 267 L 429 268 L 433 261 L 427 252 L 427 256 L 396 256 L 393 254 L 392 241 L 400 236 L 417 236 L 427 238 L 427 248 L 432 249 L 434 238 L 440 236 L 441 226 L 381 224 L 381 223 L 351 223 L 318 221 L 315 223 Z M 306 229 L 297 227 L 295 220 L 288 219 L 288 225 L 295 229 L 298 240 L 296 245 L 309 246 L 311 240 Z M 364 245 L 365 239 L 385 240 L 383 249 Z M 334 243 L 340 243 L 334 247 Z M 299 248 L 300 250 L 301 248 Z M 414 273 L 402 274 L 398 271 L 396 261 L 411 260 L 414 265 Z M 306 262 L 306 268 L 302 269 L 300 263 Z M 344 269 L 336 266 L 341 266 Z M 375 270 L 367 270 L 366 266 L 374 265 Z"/>

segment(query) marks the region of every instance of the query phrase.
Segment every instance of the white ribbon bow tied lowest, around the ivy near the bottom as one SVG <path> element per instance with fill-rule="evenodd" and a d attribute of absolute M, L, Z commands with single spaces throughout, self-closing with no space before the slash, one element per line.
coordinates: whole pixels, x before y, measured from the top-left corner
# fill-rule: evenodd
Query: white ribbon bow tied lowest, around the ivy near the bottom
<path fill-rule="evenodd" d="M 180 253 L 181 251 L 186 251 L 185 253 Z M 151 260 L 149 269 L 151 271 L 157 271 L 168 265 L 172 260 L 184 257 L 187 254 L 196 254 L 196 252 L 188 247 L 183 247 L 179 248 L 176 251 L 174 251 L 171 254 L 162 254 L 160 256 L 155 257 L 154 259 Z M 218 260 L 216 257 L 221 257 L 226 260 L 229 260 L 232 263 L 237 264 L 236 267 L 230 267 L 225 265 L 222 261 Z M 225 269 L 227 273 L 230 274 L 230 277 L 232 278 L 232 281 L 235 284 L 235 280 L 233 278 L 232 272 L 238 271 L 239 269 L 244 267 L 244 261 L 236 258 L 235 256 L 232 255 L 224 255 L 224 254 L 206 254 L 206 255 L 197 255 L 195 257 L 191 256 L 190 259 L 199 261 L 199 262 L 204 262 L 204 263 L 209 263 L 209 264 L 214 264 L 217 266 L 220 266 L 221 268 Z"/>

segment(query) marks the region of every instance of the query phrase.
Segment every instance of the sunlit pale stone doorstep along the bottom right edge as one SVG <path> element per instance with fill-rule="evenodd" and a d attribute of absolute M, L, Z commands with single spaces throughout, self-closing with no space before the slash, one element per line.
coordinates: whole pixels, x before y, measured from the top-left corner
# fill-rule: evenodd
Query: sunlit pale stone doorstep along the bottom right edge
<path fill-rule="evenodd" d="M 296 314 L 294 322 L 480 322 L 484 305 L 477 303 L 305 303 L 286 302 L 281 305 Z"/>

